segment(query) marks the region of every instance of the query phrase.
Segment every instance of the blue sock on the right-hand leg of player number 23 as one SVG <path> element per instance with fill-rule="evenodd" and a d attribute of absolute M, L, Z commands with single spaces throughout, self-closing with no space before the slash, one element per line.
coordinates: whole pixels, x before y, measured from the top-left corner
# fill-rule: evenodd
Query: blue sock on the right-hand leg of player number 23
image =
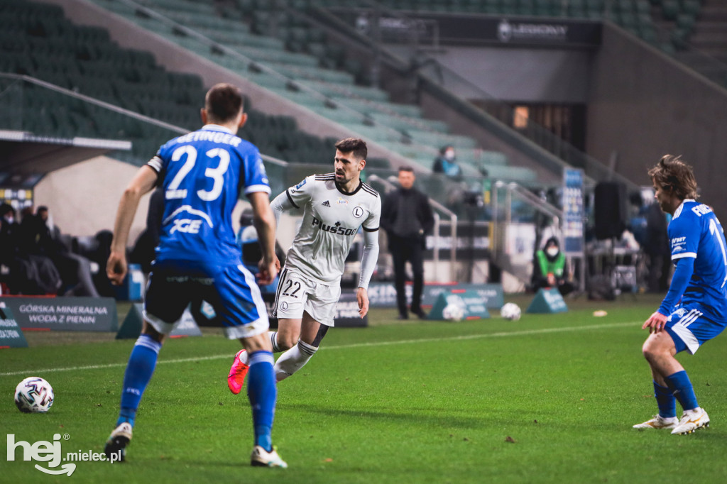
<path fill-rule="evenodd" d="M 252 424 L 255 429 L 255 443 L 266 451 L 273 450 L 270 432 L 273 429 L 275 403 L 278 397 L 275 372 L 273 371 L 273 353 L 256 351 L 250 355 L 247 374 L 247 397 L 252 406 Z"/>

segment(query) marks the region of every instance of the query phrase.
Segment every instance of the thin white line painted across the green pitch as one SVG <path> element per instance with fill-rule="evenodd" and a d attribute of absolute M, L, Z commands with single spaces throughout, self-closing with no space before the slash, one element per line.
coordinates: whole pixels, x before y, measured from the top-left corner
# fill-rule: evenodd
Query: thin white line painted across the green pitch
<path fill-rule="evenodd" d="M 489 334 L 468 334 L 465 336 L 445 336 L 443 338 L 422 338 L 422 339 L 399 339 L 398 341 L 381 341 L 381 342 L 370 342 L 370 343 L 352 343 L 352 344 L 339 344 L 338 346 L 324 346 L 321 350 L 348 350 L 349 348 L 363 348 L 363 347 L 375 347 L 375 346 L 393 346 L 395 344 L 414 344 L 414 343 L 433 343 L 443 341 L 465 341 L 467 339 L 485 339 L 485 338 L 503 338 L 505 336 L 530 336 L 532 334 L 549 334 L 549 333 L 562 333 L 568 331 L 584 331 L 590 329 L 607 329 L 607 328 L 624 328 L 627 326 L 635 326 L 640 321 L 634 321 L 631 323 L 612 323 L 612 324 L 596 324 L 593 326 L 569 326 L 566 328 L 542 328 L 542 329 L 529 329 L 525 331 L 511 331 L 511 332 L 499 332 Z M 174 360 L 160 360 L 156 364 L 173 364 L 173 363 L 191 363 L 194 361 L 207 361 L 207 360 L 222 360 L 225 358 L 232 358 L 233 355 L 212 355 L 212 356 L 196 356 L 193 358 L 175 358 Z M 41 374 L 41 373 L 52 373 L 57 371 L 82 371 L 82 370 L 100 370 L 103 368 L 119 368 L 126 366 L 124 363 L 108 363 L 105 365 L 88 365 L 88 366 L 69 366 L 65 368 L 45 368 L 41 370 L 23 370 L 23 371 L 7 371 L 0 373 L 0 376 L 15 376 L 25 374 Z"/>

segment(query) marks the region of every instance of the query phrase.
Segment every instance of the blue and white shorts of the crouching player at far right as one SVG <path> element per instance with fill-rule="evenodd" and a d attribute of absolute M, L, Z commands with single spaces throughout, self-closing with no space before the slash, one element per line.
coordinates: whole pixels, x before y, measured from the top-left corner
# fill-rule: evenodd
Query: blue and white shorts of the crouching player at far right
<path fill-rule="evenodd" d="M 689 304 L 672 312 L 665 328 L 672 336 L 677 352 L 687 350 L 694 355 L 699 346 L 718 336 L 725 326 L 704 316 L 699 304 Z"/>

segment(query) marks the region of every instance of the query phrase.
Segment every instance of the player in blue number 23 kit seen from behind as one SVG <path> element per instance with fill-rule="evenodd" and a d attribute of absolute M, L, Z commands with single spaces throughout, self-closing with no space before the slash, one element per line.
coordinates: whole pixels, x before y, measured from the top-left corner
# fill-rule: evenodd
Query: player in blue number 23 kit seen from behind
<path fill-rule="evenodd" d="M 144 301 L 141 336 L 126 366 L 121 411 L 106 442 L 107 455 L 121 451 L 124 456 L 164 336 L 172 331 L 185 307 L 201 298 L 212 304 L 227 336 L 239 339 L 250 353 L 251 464 L 287 467 L 270 442 L 277 390 L 268 313 L 254 275 L 242 265 L 232 227 L 232 211 L 239 195 L 244 194 L 252 204 L 262 247 L 258 277 L 260 283 L 270 283 L 278 271 L 276 222 L 260 153 L 236 136 L 247 119 L 242 108 L 238 88 L 213 86 L 201 110 L 204 127 L 162 146 L 139 169 L 121 197 L 106 269 L 113 283 L 121 283 L 126 275 L 126 241 L 139 199 L 156 185 L 164 189 L 164 217 Z"/>

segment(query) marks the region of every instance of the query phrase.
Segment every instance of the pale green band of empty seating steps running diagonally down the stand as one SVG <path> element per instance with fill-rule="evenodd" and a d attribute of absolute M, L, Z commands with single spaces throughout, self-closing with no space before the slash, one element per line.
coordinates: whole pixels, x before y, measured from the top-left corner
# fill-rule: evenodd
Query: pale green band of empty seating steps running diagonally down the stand
<path fill-rule="evenodd" d="M 249 11 L 243 8 L 244 2 L 238 2 L 242 7 L 229 7 L 225 15 L 230 17 L 225 18 L 211 4 L 190 0 L 144 0 L 142 4 L 149 10 L 118 0 L 93 1 L 287 100 L 342 124 L 352 134 L 379 142 L 408 158 L 422 171 L 430 169 L 441 146 L 454 145 L 468 176 L 481 177 L 486 172 L 508 181 L 530 183 L 537 179 L 530 169 L 507 166 L 507 161 L 489 166 L 490 152 L 479 148 L 471 138 L 449 133 L 449 126 L 443 121 L 422 118 L 415 105 L 390 102 L 387 92 L 381 89 L 355 84 L 356 76 L 335 69 L 340 66 L 322 67 L 320 57 L 311 52 L 316 52 L 316 46 L 320 48 L 325 39 L 320 33 L 311 33 L 294 16 L 279 25 L 282 39 L 256 33 L 271 30 L 267 24 L 273 18 L 269 2 L 257 2 Z M 157 15 L 172 22 L 160 20 Z M 286 45 L 291 45 L 290 39 L 297 39 L 293 44 L 300 47 L 299 52 L 286 49 Z M 310 48 L 307 42 L 312 43 Z M 329 54 L 329 50 L 323 52 L 329 59 L 334 57 Z"/>

